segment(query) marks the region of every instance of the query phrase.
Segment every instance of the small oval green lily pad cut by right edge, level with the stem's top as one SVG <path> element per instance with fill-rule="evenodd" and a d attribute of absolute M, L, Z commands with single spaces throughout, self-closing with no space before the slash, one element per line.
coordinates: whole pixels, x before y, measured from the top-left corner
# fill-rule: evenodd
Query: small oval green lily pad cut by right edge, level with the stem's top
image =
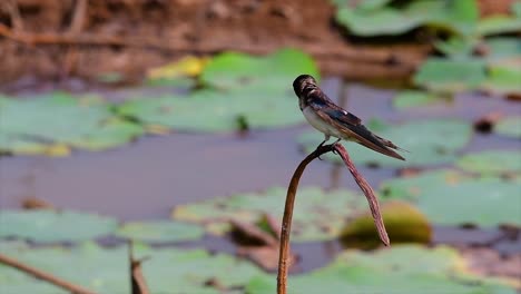
<path fill-rule="evenodd" d="M 486 150 L 466 154 L 458 160 L 464 170 L 480 174 L 521 174 L 521 151 Z"/>

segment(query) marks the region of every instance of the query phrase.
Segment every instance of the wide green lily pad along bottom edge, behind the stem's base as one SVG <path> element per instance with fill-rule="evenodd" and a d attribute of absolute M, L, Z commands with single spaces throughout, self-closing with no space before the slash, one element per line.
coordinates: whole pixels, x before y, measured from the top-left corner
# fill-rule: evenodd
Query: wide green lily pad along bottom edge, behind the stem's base
<path fill-rule="evenodd" d="M 275 293 L 276 281 L 253 278 L 247 293 Z M 289 276 L 288 293 L 458 293 L 514 294 L 515 288 L 469 274 L 464 259 L 449 247 L 393 246 L 375 253 L 347 251 L 309 274 Z"/>

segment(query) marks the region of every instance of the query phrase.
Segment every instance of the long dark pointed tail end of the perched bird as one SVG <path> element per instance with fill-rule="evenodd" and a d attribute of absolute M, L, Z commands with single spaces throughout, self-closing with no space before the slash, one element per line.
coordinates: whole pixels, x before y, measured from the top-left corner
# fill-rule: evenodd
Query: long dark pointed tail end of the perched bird
<path fill-rule="evenodd" d="M 375 150 L 380 154 L 405 161 L 405 158 L 394 150 L 400 150 L 400 151 L 407 151 L 407 150 L 397 147 L 396 145 L 394 145 L 392 141 L 387 139 L 384 139 L 382 137 L 374 135 L 363 125 L 350 126 L 348 128 L 356 135 L 357 137 L 356 143 L 372 150 Z"/>

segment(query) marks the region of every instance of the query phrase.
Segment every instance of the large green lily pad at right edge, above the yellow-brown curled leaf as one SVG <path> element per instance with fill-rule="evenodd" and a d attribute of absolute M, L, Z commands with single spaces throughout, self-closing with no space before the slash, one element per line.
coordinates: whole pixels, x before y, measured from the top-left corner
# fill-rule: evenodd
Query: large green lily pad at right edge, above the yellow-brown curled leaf
<path fill-rule="evenodd" d="M 515 182 L 443 170 L 387 180 L 382 189 L 384 197 L 414 203 L 433 224 L 521 226 L 521 194 Z"/>

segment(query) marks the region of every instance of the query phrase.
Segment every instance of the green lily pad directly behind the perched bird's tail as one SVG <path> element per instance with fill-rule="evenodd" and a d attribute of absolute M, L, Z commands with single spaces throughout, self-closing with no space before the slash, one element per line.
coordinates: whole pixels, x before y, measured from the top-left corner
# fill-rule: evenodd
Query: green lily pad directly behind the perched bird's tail
<path fill-rule="evenodd" d="M 410 151 L 403 154 L 406 161 L 402 161 L 358 144 L 344 143 L 354 163 L 384 167 L 424 166 L 454 161 L 455 151 L 463 148 L 472 136 L 472 126 L 455 119 L 415 120 L 394 126 L 382 122 L 376 126 L 370 121 L 367 128 Z M 323 135 L 318 131 L 305 133 L 298 138 L 306 153 L 313 151 L 322 140 Z M 324 158 L 343 163 L 333 154 L 327 154 Z"/>

